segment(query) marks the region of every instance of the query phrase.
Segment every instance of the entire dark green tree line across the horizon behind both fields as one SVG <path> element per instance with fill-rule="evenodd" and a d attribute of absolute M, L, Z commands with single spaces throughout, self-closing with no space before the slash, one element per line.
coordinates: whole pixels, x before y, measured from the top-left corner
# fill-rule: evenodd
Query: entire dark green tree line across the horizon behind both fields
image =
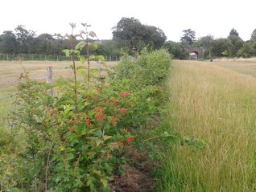
<path fill-rule="evenodd" d="M 196 31 L 188 29 L 182 31 L 180 42 L 167 41 L 167 36 L 159 27 L 143 25 L 136 18 L 121 18 L 112 30 L 112 39 L 89 39 L 91 54 L 118 59 L 123 52 L 137 55 L 143 49 L 152 51 L 164 47 L 175 59 L 188 59 L 190 47 L 203 47 L 205 59 L 256 56 L 256 29 L 246 42 L 235 29 L 229 32 L 227 38 L 220 39 L 215 39 L 213 35 L 196 39 Z M 63 55 L 62 50 L 69 47 L 70 43 L 65 35 L 36 35 L 35 31 L 27 30 L 22 25 L 0 35 L 0 54 Z"/>

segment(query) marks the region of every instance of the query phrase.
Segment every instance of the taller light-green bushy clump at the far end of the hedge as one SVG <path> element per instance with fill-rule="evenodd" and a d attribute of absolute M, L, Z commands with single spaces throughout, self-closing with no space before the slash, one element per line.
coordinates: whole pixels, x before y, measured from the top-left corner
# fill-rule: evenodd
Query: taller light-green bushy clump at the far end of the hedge
<path fill-rule="evenodd" d="M 138 59 L 130 61 L 123 55 L 115 68 L 114 80 L 130 80 L 130 88 L 139 90 L 148 85 L 159 85 L 166 80 L 171 67 L 171 55 L 164 49 L 142 51 Z"/>

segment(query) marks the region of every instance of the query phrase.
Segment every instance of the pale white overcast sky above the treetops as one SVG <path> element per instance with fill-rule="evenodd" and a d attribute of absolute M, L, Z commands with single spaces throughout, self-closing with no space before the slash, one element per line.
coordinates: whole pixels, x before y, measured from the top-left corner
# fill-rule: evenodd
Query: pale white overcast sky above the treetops
<path fill-rule="evenodd" d="M 112 39 L 111 28 L 122 17 L 162 29 L 168 40 L 180 41 L 191 28 L 196 39 L 226 38 L 234 28 L 243 40 L 256 29 L 256 0 L 2 0 L 0 34 L 18 25 L 43 33 L 71 32 L 69 22 L 88 22 L 98 39 Z"/>

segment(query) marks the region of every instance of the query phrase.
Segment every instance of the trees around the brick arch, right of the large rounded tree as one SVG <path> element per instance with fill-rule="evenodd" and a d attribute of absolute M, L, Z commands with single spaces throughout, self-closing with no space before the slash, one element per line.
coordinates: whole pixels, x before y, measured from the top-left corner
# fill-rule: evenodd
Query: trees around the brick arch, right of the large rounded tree
<path fill-rule="evenodd" d="M 256 29 L 248 41 L 243 41 L 234 28 L 229 31 L 227 38 L 219 39 L 215 39 L 213 35 L 196 39 L 196 31 L 192 29 L 184 30 L 183 33 L 180 42 L 168 41 L 164 45 L 176 59 L 187 59 L 190 47 L 204 48 L 204 59 L 256 56 Z"/>

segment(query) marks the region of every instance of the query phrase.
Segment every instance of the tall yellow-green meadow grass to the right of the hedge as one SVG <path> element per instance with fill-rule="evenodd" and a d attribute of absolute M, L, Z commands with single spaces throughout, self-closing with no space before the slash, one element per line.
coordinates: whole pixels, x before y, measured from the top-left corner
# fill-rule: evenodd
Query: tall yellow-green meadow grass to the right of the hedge
<path fill-rule="evenodd" d="M 171 145 L 159 191 L 256 190 L 254 76 L 227 61 L 174 62 L 168 81 L 171 129 L 206 145 Z"/>

